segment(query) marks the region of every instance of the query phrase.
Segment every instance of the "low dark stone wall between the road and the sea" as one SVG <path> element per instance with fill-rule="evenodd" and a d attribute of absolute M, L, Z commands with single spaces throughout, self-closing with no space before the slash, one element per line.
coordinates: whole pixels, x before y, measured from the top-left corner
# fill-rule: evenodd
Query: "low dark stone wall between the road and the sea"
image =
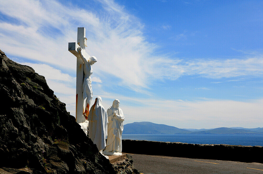
<path fill-rule="evenodd" d="M 145 155 L 173 156 L 263 163 L 262 146 L 226 144 L 188 144 L 145 140 L 122 140 L 122 152 Z"/>

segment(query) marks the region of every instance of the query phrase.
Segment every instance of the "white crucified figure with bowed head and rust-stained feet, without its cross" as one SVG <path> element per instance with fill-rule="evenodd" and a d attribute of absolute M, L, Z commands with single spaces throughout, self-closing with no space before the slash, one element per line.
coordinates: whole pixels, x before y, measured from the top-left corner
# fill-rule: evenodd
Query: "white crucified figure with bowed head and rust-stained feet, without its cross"
<path fill-rule="evenodd" d="M 89 115 L 89 106 L 92 99 L 92 88 L 91 88 L 91 75 L 92 75 L 92 67 L 95 62 L 97 62 L 97 58 L 95 56 L 89 57 L 87 60 L 83 54 L 82 49 L 78 48 L 78 53 L 83 60 L 83 71 L 84 71 L 84 78 L 83 78 L 83 115 L 85 116 L 86 120 Z"/>

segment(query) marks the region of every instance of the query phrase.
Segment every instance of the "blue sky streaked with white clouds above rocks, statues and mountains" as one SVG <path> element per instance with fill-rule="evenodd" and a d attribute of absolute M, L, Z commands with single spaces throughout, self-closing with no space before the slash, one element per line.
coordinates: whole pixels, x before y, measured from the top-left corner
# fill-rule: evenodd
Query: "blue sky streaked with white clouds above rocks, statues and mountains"
<path fill-rule="evenodd" d="M 125 124 L 263 127 L 262 1 L 0 1 L 0 49 L 72 115 L 77 27 L 98 59 L 92 103 L 119 99 Z"/>

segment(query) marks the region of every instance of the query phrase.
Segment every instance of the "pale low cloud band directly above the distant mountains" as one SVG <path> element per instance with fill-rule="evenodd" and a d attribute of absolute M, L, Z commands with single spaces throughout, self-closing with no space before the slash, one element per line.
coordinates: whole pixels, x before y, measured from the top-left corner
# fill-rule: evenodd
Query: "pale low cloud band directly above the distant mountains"
<path fill-rule="evenodd" d="M 117 93 L 101 93 L 103 105 L 108 108 L 115 98 L 122 99 L 125 124 L 136 121 L 151 121 L 179 128 L 216 127 L 262 127 L 263 99 L 246 102 L 234 100 L 165 100 L 122 96 Z M 136 109 L 130 102 L 137 103 Z"/>

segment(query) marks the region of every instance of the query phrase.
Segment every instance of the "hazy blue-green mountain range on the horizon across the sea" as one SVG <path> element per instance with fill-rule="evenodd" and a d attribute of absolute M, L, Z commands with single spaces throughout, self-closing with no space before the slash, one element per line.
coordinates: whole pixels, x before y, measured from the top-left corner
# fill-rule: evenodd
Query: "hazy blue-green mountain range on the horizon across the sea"
<path fill-rule="evenodd" d="M 152 122 L 134 122 L 124 125 L 123 134 L 263 134 L 263 127 L 219 127 L 215 129 L 179 129 Z"/>

